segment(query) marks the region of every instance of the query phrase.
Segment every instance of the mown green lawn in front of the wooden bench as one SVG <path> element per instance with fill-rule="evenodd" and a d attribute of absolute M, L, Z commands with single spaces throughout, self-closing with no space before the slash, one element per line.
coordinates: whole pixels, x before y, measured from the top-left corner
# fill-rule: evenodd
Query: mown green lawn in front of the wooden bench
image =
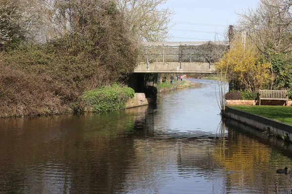
<path fill-rule="evenodd" d="M 230 107 L 292 125 L 291 106 L 232 105 Z"/>

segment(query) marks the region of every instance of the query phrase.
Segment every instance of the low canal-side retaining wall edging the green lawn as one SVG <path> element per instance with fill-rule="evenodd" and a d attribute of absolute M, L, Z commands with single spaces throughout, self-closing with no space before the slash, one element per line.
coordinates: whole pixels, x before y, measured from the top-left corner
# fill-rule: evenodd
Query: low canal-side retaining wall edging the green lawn
<path fill-rule="evenodd" d="M 292 126 L 226 106 L 223 116 L 292 142 Z"/>

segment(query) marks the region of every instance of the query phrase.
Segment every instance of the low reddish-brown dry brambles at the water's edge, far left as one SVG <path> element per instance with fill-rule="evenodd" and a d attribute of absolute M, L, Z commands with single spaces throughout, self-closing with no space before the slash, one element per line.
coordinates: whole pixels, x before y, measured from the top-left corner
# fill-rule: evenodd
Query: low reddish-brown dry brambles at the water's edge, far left
<path fill-rule="evenodd" d="M 0 117 L 67 113 L 68 89 L 47 76 L 28 74 L 0 64 Z M 72 97 L 76 94 L 72 93 Z"/>

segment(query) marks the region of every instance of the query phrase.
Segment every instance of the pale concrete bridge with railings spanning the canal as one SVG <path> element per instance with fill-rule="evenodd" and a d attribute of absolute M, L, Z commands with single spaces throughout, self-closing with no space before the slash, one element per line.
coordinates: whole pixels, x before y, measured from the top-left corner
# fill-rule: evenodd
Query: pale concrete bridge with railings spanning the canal
<path fill-rule="evenodd" d="M 145 42 L 134 73 L 213 73 L 219 42 Z"/>

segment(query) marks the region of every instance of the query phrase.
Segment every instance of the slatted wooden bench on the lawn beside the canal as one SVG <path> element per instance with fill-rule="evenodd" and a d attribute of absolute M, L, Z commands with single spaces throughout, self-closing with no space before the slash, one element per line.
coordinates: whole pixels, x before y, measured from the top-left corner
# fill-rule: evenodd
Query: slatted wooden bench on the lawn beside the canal
<path fill-rule="evenodd" d="M 288 105 L 287 90 L 259 90 L 259 105 L 260 100 L 285 100 Z"/>

